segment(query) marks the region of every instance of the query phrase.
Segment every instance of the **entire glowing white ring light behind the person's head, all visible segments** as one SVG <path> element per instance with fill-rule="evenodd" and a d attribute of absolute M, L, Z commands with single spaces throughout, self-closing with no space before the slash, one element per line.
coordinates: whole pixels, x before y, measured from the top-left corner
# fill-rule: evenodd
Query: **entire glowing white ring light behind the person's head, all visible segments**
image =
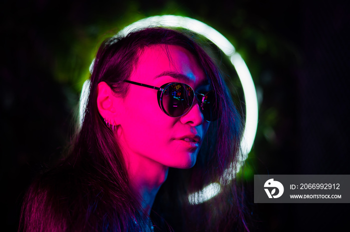
<path fill-rule="evenodd" d="M 229 58 L 234 69 L 236 70 L 239 80 L 242 84 L 244 99 L 245 99 L 245 127 L 243 132 L 242 140 L 240 141 L 240 145 L 242 148 L 241 159 L 237 162 L 237 167 L 233 167 L 231 165 L 230 168 L 225 170 L 223 176 L 221 177 L 221 185 L 225 183 L 229 183 L 231 180 L 231 173 L 237 173 L 243 165 L 244 160 L 247 158 L 248 153 L 250 152 L 257 128 L 257 97 L 256 90 L 254 86 L 254 82 L 250 75 L 249 69 L 246 66 L 242 57 L 235 51 L 234 46 L 217 30 L 208 26 L 207 24 L 198 21 L 193 18 L 183 17 L 178 15 L 161 15 L 161 16 L 151 16 L 141 20 L 138 20 L 126 27 L 124 27 L 121 31 L 118 32 L 117 35 L 126 35 L 129 32 L 145 27 L 152 26 L 165 26 L 165 27 L 181 27 L 184 29 L 191 30 L 196 32 L 197 34 L 205 36 L 211 42 L 213 42 L 218 48 L 222 50 L 222 52 Z M 93 64 L 93 63 L 92 63 Z M 93 66 L 91 64 L 91 67 Z M 88 96 L 88 86 L 89 82 L 85 82 L 82 88 L 81 96 L 80 96 L 80 122 L 83 118 L 83 112 L 86 105 L 86 99 Z M 200 204 L 204 201 L 209 200 L 220 192 L 220 184 L 211 183 L 203 190 L 198 193 L 193 193 L 188 196 L 188 201 L 191 204 Z"/>

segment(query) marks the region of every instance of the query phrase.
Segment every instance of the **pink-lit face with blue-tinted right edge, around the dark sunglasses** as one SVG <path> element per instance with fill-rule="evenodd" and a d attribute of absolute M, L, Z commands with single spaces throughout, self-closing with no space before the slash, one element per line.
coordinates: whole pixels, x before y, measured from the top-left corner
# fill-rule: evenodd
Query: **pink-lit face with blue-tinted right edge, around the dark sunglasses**
<path fill-rule="evenodd" d="M 129 80 L 156 87 L 181 82 L 195 92 L 210 89 L 194 56 L 176 45 L 143 49 Z M 123 111 L 117 136 L 129 162 L 147 160 L 172 168 L 194 165 L 209 126 L 196 99 L 186 114 L 173 118 L 159 108 L 157 90 L 130 84 Z"/>

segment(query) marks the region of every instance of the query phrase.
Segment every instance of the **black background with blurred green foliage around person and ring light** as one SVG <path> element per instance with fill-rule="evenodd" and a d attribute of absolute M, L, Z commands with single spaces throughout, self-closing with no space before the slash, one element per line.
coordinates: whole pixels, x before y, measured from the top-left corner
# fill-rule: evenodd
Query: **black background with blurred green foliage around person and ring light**
<path fill-rule="evenodd" d="M 98 44 L 158 14 L 201 20 L 244 58 L 259 96 L 245 168 L 254 231 L 348 230 L 348 204 L 253 204 L 253 174 L 350 174 L 346 1 L 4 0 L 1 11 L 0 230 L 15 231 L 34 175 L 70 139 Z"/>

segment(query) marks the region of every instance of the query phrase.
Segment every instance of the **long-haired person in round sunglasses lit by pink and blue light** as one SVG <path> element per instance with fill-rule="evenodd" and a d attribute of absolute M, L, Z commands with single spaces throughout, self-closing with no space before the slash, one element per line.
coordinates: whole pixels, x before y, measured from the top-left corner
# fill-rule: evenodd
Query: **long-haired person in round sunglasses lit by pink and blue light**
<path fill-rule="evenodd" d="M 188 202 L 234 164 L 241 136 L 218 69 L 191 38 L 146 28 L 106 40 L 89 92 L 67 156 L 29 188 L 20 230 L 247 230 L 236 184 Z"/>

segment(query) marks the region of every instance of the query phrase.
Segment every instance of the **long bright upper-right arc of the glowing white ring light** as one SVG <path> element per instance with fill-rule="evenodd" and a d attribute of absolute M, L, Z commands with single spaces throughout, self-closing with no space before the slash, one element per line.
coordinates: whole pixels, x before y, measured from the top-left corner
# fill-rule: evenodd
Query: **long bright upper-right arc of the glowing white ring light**
<path fill-rule="evenodd" d="M 246 119 L 243 138 L 241 141 L 241 146 L 243 148 L 242 157 L 243 160 L 245 160 L 247 158 L 247 154 L 252 148 L 255 139 L 258 109 L 254 82 L 242 57 L 237 52 L 235 52 L 234 46 L 217 30 L 201 21 L 189 17 L 177 15 L 147 17 L 126 26 L 124 29 L 118 32 L 118 35 L 126 35 L 135 29 L 145 28 L 149 26 L 182 27 L 192 30 L 212 41 L 218 48 L 222 50 L 225 55 L 228 56 L 238 74 L 239 80 L 243 87 L 245 98 Z"/>

